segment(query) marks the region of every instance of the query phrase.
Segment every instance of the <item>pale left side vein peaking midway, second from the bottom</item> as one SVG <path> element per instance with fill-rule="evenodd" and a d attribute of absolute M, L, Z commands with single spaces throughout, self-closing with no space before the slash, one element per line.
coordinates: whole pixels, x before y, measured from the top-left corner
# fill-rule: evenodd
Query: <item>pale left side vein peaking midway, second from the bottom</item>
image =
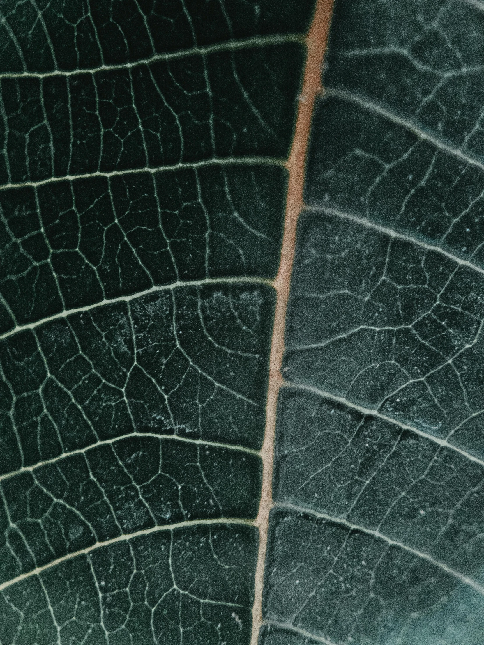
<path fill-rule="evenodd" d="M 118 437 L 111 437 L 110 439 L 101 439 L 96 441 L 96 443 L 91 444 L 90 446 L 85 446 L 84 448 L 76 448 L 76 450 L 70 450 L 69 452 L 62 453 L 57 455 L 57 457 L 52 457 L 52 459 L 46 459 L 45 461 L 39 461 L 32 466 L 22 466 L 18 470 L 14 470 L 10 473 L 3 473 L 0 475 L 0 482 L 4 479 L 10 479 L 11 477 L 16 477 L 21 475 L 21 473 L 33 472 L 37 468 L 43 468 L 43 466 L 49 466 L 50 464 L 55 464 L 58 461 L 72 457 L 73 455 L 84 455 L 94 448 L 99 446 L 106 446 L 114 444 L 117 441 L 123 441 L 123 439 L 130 439 L 131 437 L 153 437 L 154 439 L 159 439 L 163 441 L 181 441 L 182 443 L 194 444 L 199 446 L 209 446 L 210 448 L 220 448 L 221 450 L 236 450 L 237 452 L 245 452 L 248 455 L 254 455 L 259 457 L 261 452 L 260 450 L 255 450 L 254 448 L 247 448 L 246 446 L 240 446 L 239 444 L 227 444 L 218 441 L 205 441 L 205 439 L 190 439 L 190 437 L 180 437 L 179 435 L 164 435 L 163 433 L 157 434 L 156 432 L 128 432 L 125 435 L 119 435 Z"/>

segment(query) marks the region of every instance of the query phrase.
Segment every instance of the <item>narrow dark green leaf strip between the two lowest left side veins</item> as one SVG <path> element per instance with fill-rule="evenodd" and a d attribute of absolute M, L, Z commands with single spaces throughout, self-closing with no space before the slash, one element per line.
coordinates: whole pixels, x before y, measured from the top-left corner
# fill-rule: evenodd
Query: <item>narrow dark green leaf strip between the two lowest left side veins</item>
<path fill-rule="evenodd" d="M 197 519 L 253 518 L 255 455 L 126 437 L 0 483 L 0 584 L 121 535 Z"/>

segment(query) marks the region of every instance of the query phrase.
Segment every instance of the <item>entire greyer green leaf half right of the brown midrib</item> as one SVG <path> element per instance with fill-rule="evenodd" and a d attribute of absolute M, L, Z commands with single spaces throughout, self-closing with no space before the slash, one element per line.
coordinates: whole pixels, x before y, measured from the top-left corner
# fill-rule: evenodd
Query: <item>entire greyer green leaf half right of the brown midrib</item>
<path fill-rule="evenodd" d="M 279 397 L 265 645 L 484 632 L 479 0 L 340 0 Z"/>

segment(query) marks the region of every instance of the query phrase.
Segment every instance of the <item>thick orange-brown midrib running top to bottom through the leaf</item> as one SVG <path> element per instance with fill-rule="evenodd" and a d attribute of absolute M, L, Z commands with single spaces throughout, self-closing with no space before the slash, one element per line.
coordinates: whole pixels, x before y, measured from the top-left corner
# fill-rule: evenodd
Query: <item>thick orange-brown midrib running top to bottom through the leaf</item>
<path fill-rule="evenodd" d="M 267 552 L 269 513 L 272 508 L 272 465 L 274 462 L 274 441 L 276 436 L 276 408 L 279 388 L 283 384 L 281 366 L 284 354 L 284 333 L 289 299 L 290 276 L 296 246 L 296 226 L 303 208 L 305 165 L 311 117 L 316 96 L 321 93 L 321 68 L 327 49 L 330 22 L 334 0 L 317 0 L 312 25 L 307 34 L 307 59 L 299 104 L 297 108 L 294 139 L 286 167 L 289 171 L 286 213 L 281 261 L 274 280 L 276 289 L 276 313 L 270 345 L 269 383 L 267 393 L 266 425 L 261 450 L 263 478 L 261 504 L 256 519 L 259 528 L 259 553 L 255 578 L 254 607 L 252 610 L 252 639 L 250 645 L 257 645 L 259 630 L 263 624 L 262 600 L 264 568 Z"/>

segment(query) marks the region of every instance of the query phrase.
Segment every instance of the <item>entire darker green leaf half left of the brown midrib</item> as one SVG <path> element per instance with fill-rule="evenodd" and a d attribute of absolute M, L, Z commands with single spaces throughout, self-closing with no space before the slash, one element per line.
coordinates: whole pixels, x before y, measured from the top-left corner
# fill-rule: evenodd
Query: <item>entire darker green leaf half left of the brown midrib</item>
<path fill-rule="evenodd" d="M 0 642 L 246 644 L 312 1 L 0 3 Z"/>

